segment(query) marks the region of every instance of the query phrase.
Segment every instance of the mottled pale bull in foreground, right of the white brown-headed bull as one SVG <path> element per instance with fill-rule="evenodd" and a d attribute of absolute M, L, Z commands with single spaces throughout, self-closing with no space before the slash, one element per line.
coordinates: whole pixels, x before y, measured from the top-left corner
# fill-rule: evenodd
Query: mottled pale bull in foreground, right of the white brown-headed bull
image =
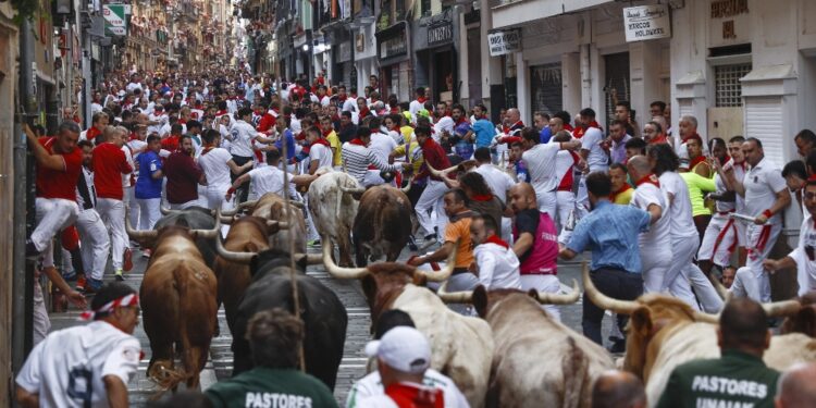
<path fill-rule="evenodd" d="M 580 296 L 578 282 L 569 295 L 489 292 L 481 285 L 472 292 L 447 293 L 446 286 L 440 288 L 440 298 L 445 302 L 472 302 L 493 330 L 489 407 L 592 406 L 592 384 L 615 367 L 611 357 L 603 347 L 551 318 L 540 305 L 574 304 Z"/>

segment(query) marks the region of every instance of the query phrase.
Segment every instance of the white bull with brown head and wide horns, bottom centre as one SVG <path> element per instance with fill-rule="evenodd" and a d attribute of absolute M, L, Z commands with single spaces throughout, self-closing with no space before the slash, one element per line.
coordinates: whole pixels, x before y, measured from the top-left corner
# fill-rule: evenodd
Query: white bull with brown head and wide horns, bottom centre
<path fill-rule="evenodd" d="M 385 310 L 399 309 L 413 319 L 417 330 L 431 344 L 431 368 L 448 375 L 473 408 L 484 406 L 493 334 L 481 319 L 463 317 L 448 309 L 429 290 L 425 281 L 442 282 L 453 273 L 456 250 L 441 272 L 429 274 L 399 263 L 375 263 L 367 268 L 338 268 L 332 261 L 332 246 L 323 237 L 323 262 L 337 279 L 359 279 L 371 308 L 371 324 Z"/>

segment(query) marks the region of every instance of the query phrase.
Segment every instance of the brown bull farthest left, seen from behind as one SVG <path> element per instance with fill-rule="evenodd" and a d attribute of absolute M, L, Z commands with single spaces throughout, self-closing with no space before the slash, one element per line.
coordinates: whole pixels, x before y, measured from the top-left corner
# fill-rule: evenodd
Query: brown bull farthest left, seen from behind
<path fill-rule="evenodd" d="M 212 231 L 166 226 L 153 232 L 158 236 L 156 249 L 139 296 L 152 350 L 148 376 L 164 390 L 175 388 L 183 381 L 187 388 L 198 387 L 218 307 L 215 275 L 205 263 L 195 238 L 214 238 L 219 230 L 217 222 Z M 176 354 L 181 354 L 182 369 L 174 368 Z"/>

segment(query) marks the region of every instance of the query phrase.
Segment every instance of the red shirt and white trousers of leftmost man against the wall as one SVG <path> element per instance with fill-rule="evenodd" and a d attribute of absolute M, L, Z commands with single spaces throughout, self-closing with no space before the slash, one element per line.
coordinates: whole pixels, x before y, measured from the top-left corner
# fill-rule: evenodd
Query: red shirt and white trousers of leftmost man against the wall
<path fill-rule="evenodd" d="M 57 138 L 42 137 L 39 144 L 52 153 Z M 53 237 L 73 224 L 79 208 L 76 206 L 76 182 L 82 174 L 83 152 L 74 148 L 61 153 L 63 170 L 37 166 L 37 199 L 35 201 L 37 227 L 32 233 L 32 244 L 42 254 L 42 265 L 53 267 Z"/>

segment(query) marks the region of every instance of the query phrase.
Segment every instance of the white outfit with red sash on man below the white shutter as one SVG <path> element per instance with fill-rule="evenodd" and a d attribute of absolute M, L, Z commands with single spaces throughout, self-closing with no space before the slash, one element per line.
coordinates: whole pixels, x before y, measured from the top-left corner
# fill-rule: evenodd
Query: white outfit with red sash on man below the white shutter
<path fill-rule="evenodd" d="M 788 188 L 782 177 L 781 170 L 767 158 L 761 160 L 756 165 L 745 173 L 742 180 L 745 187 L 745 215 L 758 217 L 774 206 L 777 193 Z M 756 280 L 759 298 L 747 294 L 756 301 L 770 301 L 770 282 L 768 274 L 764 271 L 763 261 L 768 258 L 779 233 L 782 231 L 782 218 L 779 213 L 774 214 L 764 225 L 751 223 L 745 231 L 747 260 L 745 267 L 738 270 L 750 271 Z"/>

